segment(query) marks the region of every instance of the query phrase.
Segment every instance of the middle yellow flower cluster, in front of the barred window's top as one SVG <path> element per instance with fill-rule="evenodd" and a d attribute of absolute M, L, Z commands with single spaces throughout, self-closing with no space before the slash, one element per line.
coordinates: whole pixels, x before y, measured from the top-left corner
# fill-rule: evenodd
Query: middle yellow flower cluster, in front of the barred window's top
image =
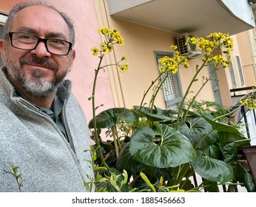
<path fill-rule="evenodd" d="M 174 57 L 164 56 L 164 58 L 159 59 L 161 67 L 159 67 L 160 72 L 170 71 L 172 74 L 178 72 L 179 66 L 183 65 L 184 67 L 189 67 L 189 61 L 186 57 L 181 56 L 178 52 L 178 47 L 172 45 L 172 50 L 174 50 Z"/>

